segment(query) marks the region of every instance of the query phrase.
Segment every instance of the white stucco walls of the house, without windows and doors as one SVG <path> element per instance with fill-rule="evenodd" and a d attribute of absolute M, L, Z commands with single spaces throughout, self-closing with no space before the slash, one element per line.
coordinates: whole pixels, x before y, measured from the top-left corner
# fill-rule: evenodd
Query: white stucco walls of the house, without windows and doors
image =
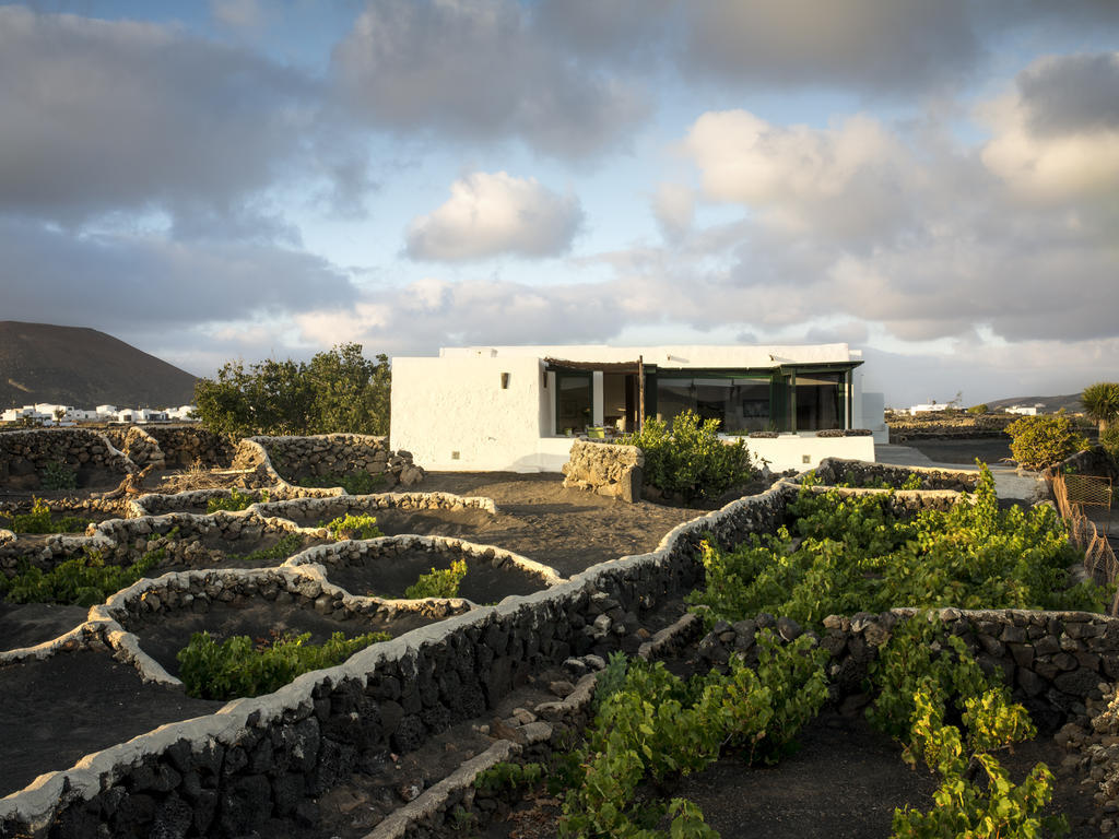
<path fill-rule="evenodd" d="M 554 436 L 555 378 L 545 358 L 633 361 L 661 367 L 770 367 L 788 362 L 857 360 L 846 343 L 810 347 L 451 347 L 438 358 L 393 359 L 393 449 L 412 452 L 430 470 L 558 472 L 572 440 Z M 509 374 L 508 388 L 501 374 Z M 601 424 L 602 377 L 594 377 L 595 424 Z M 547 384 L 545 384 L 547 383 Z M 863 418 L 862 374 L 853 394 L 855 427 Z M 873 411 L 871 412 L 873 413 Z M 874 460 L 873 437 L 810 433 L 750 440 L 773 470 L 815 466 L 828 456 Z"/>

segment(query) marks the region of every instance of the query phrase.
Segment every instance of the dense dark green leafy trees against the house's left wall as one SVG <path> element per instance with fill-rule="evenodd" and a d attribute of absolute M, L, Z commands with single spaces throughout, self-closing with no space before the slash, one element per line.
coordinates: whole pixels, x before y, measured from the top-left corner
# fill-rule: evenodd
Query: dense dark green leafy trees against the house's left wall
<path fill-rule="evenodd" d="M 195 404 L 207 428 L 234 437 L 387 434 L 389 381 L 387 356 L 370 361 L 361 345 L 341 343 L 310 362 L 227 361 L 196 383 Z"/>

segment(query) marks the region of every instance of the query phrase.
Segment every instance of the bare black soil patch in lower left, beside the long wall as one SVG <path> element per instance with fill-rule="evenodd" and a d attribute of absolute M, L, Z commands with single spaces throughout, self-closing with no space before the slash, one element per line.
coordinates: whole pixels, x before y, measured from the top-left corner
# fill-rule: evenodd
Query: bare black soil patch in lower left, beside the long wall
<path fill-rule="evenodd" d="M 72 652 L 0 667 L 0 796 L 38 775 L 164 723 L 204 716 L 225 703 L 144 685 L 107 652 Z"/>

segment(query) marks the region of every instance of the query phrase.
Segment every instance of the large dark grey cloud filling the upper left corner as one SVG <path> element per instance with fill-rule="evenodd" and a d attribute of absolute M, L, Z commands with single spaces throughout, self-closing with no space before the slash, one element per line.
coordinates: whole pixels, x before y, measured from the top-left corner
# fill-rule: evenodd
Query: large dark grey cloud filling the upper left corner
<path fill-rule="evenodd" d="M 65 225 L 163 211 L 238 235 L 269 216 L 256 205 L 280 181 L 368 185 L 323 94 L 300 69 L 178 26 L 2 6 L 0 211 Z"/>

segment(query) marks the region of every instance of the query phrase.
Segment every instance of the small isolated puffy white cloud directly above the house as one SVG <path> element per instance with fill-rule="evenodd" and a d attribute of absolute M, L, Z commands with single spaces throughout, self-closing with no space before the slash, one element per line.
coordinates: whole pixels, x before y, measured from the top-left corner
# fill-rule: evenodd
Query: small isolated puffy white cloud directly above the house
<path fill-rule="evenodd" d="M 582 219 L 579 199 L 557 195 L 535 178 L 473 172 L 451 185 L 445 204 L 412 220 L 407 253 L 444 262 L 554 256 L 571 247 Z"/>

